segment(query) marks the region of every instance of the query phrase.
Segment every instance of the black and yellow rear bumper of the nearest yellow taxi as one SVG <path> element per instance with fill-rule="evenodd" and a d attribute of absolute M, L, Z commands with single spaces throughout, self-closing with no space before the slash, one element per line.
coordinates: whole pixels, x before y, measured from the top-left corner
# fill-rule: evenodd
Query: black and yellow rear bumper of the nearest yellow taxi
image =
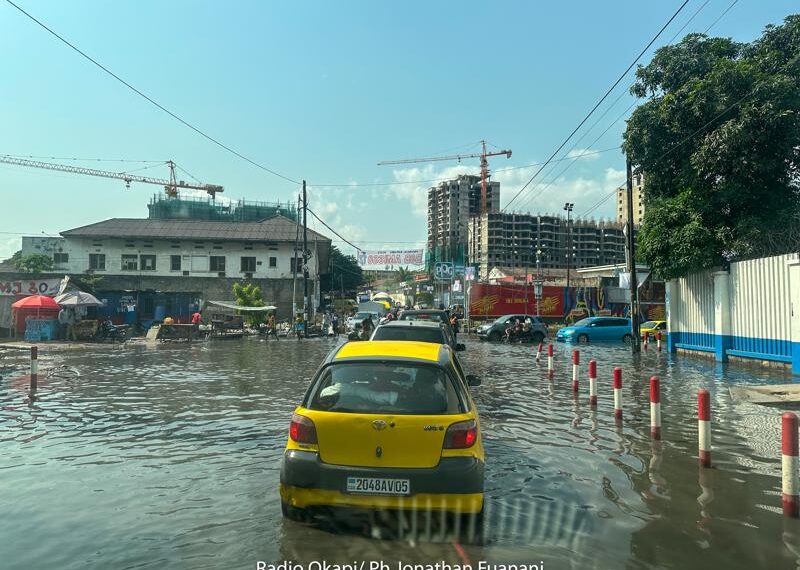
<path fill-rule="evenodd" d="M 431 509 L 480 512 L 483 462 L 474 457 L 443 457 L 429 469 L 348 467 L 323 463 L 311 451 L 289 450 L 281 465 L 281 498 L 288 504 L 355 508 Z M 348 477 L 409 479 L 407 496 L 347 493 Z"/>

